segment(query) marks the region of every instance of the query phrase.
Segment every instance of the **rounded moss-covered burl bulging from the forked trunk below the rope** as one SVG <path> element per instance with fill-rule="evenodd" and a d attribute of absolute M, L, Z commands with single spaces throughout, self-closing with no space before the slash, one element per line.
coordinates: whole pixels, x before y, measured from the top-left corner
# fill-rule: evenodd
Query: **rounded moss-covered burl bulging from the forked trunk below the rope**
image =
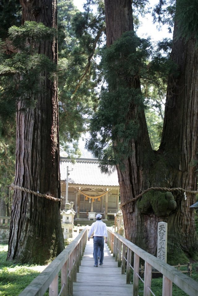
<path fill-rule="evenodd" d="M 150 190 L 137 201 L 137 206 L 141 214 L 154 212 L 158 217 L 167 217 L 177 204 L 172 193 Z"/>

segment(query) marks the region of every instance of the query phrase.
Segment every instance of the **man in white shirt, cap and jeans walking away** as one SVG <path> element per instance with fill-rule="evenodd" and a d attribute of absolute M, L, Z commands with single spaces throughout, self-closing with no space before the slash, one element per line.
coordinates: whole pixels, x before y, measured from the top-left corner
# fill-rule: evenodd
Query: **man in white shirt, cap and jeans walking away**
<path fill-rule="evenodd" d="M 94 252 L 94 267 L 98 267 L 98 248 L 100 248 L 100 261 L 99 265 L 103 265 L 103 258 L 104 258 L 104 236 L 105 236 L 105 243 L 107 243 L 107 228 L 106 224 L 101 220 L 102 215 L 96 215 L 96 222 L 94 222 L 89 229 L 88 233 L 88 241 L 90 240 L 90 236 L 93 235 L 93 252 Z"/>

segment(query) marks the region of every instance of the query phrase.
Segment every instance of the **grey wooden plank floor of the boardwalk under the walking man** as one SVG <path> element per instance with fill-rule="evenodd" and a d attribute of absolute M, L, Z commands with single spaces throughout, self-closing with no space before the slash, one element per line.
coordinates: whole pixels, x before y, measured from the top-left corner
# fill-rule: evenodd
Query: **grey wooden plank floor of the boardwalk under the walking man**
<path fill-rule="evenodd" d="M 93 265 L 93 240 L 90 239 L 77 273 L 77 282 L 73 283 L 73 296 L 132 295 L 133 286 L 126 284 L 126 275 L 121 274 L 121 267 L 118 267 L 118 262 L 115 262 L 107 244 L 104 247 L 103 265 Z"/>

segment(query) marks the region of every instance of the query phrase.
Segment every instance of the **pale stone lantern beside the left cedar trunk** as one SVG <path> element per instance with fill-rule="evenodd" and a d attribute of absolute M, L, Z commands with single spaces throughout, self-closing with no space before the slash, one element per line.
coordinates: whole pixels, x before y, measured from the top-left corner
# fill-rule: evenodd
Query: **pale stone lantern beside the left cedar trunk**
<path fill-rule="evenodd" d="M 61 212 L 62 215 L 62 227 L 64 228 L 63 236 L 64 240 L 67 240 L 70 236 L 70 233 L 73 232 L 73 225 L 74 225 L 74 216 L 75 211 L 73 210 L 73 202 L 66 203 L 65 209 Z"/>

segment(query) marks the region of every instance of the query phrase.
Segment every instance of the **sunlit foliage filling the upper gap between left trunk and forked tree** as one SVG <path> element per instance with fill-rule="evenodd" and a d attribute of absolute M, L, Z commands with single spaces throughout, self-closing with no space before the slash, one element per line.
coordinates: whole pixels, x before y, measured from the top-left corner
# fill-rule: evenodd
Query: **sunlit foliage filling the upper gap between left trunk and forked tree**
<path fill-rule="evenodd" d="M 101 40 L 104 25 L 101 7 L 100 3 L 100 13 L 94 15 L 88 6 L 82 13 L 73 1 L 58 1 L 58 22 L 63 25 L 61 34 L 64 37 L 59 47 L 59 132 L 60 144 L 68 156 L 78 153 L 77 142 L 88 129 L 89 119 L 97 106 L 96 86 L 100 71 L 96 45 Z M 88 32 L 87 23 L 91 28 Z"/>

